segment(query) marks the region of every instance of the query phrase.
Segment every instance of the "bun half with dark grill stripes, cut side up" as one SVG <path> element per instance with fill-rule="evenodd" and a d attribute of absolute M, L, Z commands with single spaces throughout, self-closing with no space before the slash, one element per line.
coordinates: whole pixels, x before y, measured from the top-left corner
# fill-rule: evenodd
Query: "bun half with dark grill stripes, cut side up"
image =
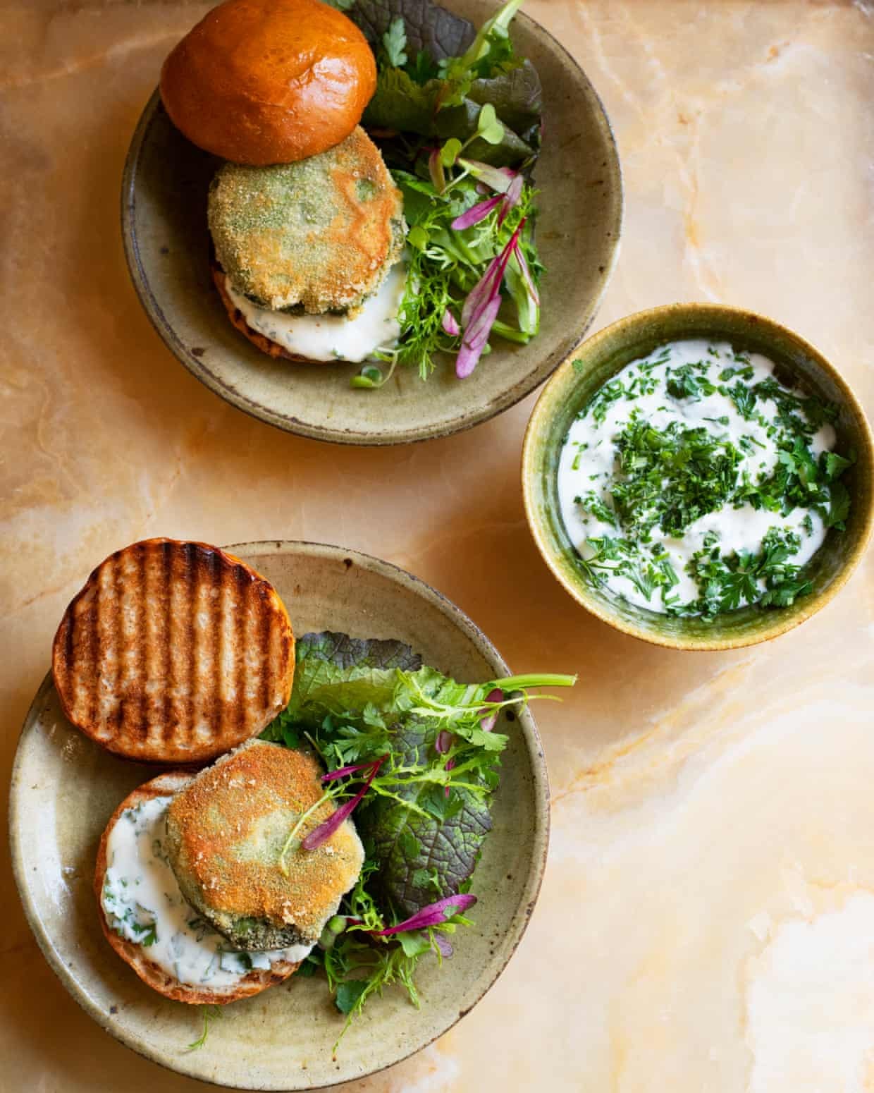
<path fill-rule="evenodd" d="M 146 539 L 97 566 L 51 650 L 63 712 L 144 763 L 203 763 L 283 709 L 294 636 L 273 586 L 205 543 Z"/>

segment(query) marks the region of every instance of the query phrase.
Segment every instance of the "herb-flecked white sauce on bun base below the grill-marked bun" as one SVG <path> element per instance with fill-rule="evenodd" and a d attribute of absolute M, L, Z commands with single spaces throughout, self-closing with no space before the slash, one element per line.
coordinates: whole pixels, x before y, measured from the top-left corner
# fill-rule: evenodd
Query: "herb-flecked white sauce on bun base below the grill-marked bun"
<path fill-rule="evenodd" d="M 127 809 L 113 827 L 101 897 L 110 928 L 143 945 L 179 983 L 232 987 L 252 968 L 304 960 L 312 945 L 240 952 L 186 902 L 164 850 L 170 800 L 154 797 Z"/>

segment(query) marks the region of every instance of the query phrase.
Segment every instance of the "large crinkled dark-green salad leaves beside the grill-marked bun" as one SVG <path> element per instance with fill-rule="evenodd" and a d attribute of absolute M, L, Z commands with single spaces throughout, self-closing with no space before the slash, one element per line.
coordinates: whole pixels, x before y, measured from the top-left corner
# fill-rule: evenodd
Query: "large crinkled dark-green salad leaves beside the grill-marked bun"
<path fill-rule="evenodd" d="M 299 748 L 304 732 L 340 762 L 359 762 L 390 749 L 395 767 L 427 767 L 437 734 L 450 729 L 482 749 L 464 780 L 481 791 L 411 781 L 392 787 L 395 797 L 371 796 L 355 823 L 377 870 L 374 886 L 386 908 L 406 918 L 436 900 L 454 895 L 474 870 L 492 827 L 488 803 L 498 784 L 498 753 L 507 737 L 484 732 L 471 717 L 492 690 L 458 683 L 402 642 L 306 634 L 296 646 L 294 687 L 287 708 L 262 738 Z M 398 799 L 400 798 L 400 800 Z M 416 806 L 406 808 L 403 801 Z"/>

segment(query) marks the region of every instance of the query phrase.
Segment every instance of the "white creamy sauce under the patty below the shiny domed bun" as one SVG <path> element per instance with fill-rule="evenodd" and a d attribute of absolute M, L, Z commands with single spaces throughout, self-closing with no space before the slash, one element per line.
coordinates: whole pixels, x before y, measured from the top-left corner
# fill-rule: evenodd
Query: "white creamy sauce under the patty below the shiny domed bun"
<path fill-rule="evenodd" d="M 390 348 L 401 336 L 398 313 L 406 284 L 404 263 L 395 262 L 379 289 L 354 318 L 344 315 L 290 315 L 271 312 L 247 299 L 225 278 L 225 289 L 236 307 L 258 333 L 290 353 L 311 361 L 367 361 L 378 349 Z"/>

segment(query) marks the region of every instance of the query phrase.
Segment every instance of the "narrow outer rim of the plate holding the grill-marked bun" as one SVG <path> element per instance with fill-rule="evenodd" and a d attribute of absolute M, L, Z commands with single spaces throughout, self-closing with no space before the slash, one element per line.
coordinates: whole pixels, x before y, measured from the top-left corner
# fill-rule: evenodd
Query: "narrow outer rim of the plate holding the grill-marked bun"
<path fill-rule="evenodd" d="M 262 540 L 249 540 L 247 542 L 232 543 L 227 546 L 223 546 L 223 550 L 227 550 L 231 553 L 245 555 L 247 552 L 251 552 L 250 556 L 258 556 L 259 554 L 263 556 L 273 554 L 303 554 L 315 557 L 322 557 L 328 561 L 340 561 L 343 562 L 346 559 L 352 559 L 353 563 L 361 565 L 362 568 L 368 569 L 371 573 L 377 573 L 378 575 L 388 578 L 394 584 L 399 584 L 402 587 L 412 589 L 415 595 L 429 600 L 432 604 L 437 607 L 445 615 L 447 615 L 457 626 L 461 630 L 474 644 L 477 651 L 495 667 L 503 674 L 509 674 L 509 667 L 501 657 L 500 653 L 496 648 L 493 642 L 483 633 L 482 630 L 473 622 L 473 620 L 452 602 L 448 597 L 444 596 L 436 588 L 433 588 L 427 581 L 423 580 L 421 577 L 416 577 L 414 574 L 395 565 L 393 562 L 386 562 L 383 559 L 376 557 L 375 555 L 367 554 L 364 551 L 346 549 L 334 543 L 320 543 L 310 540 L 296 540 L 296 539 L 262 539 Z M 498 677 L 499 678 L 499 677 Z M 511 919 L 511 930 L 508 933 L 515 935 L 512 940 L 512 945 L 507 953 L 506 959 L 500 963 L 494 975 L 491 976 L 487 983 L 479 990 L 476 1000 L 464 1010 L 458 1011 L 458 1013 L 452 1018 L 449 1024 L 447 1024 L 440 1032 L 435 1033 L 424 1043 L 416 1047 L 411 1048 L 398 1058 L 393 1059 L 391 1062 L 387 1062 L 382 1066 L 376 1067 L 370 1070 L 365 1070 L 363 1072 L 356 1073 L 354 1077 L 338 1078 L 336 1080 L 331 1080 L 330 1082 L 322 1083 L 321 1085 L 299 1085 L 299 1084 L 288 1084 L 284 1082 L 283 1085 L 257 1085 L 257 1084 L 239 1084 L 236 1082 L 226 1082 L 216 1078 L 205 1078 L 201 1073 L 194 1072 L 187 1069 L 185 1066 L 176 1065 L 175 1061 L 170 1061 L 166 1054 L 160 1050 L 147 1050 L 144 1041 L 135 1039 L 134 1037 L 126 1034 L 123 1030 L 117 1026 L 117 1023 L 111 1020 L 111 1015 L 107 1014 L 98 1004 L 96 1004 L 85 992 L 79 983 L 75 973 L 71 972 L 70 968 L 64 964 L 60 954 L 56 950 L 52 939 L 47 930 L 44 929 L 38 909 L 35 905 L 35 901 L 32 898 L 31 891 L 26 883 L 26 871 L 24 869 L 24 861 L 22 857 L 21 841 L 20 841 L 20 823 L 17 822 L 17 815 L 20 812 L 20 800 L 23 798 L 25 792 L 22 786 L 22 772 L 21 764 L 23 762 L 23 749 L 22 743 L 24 741 L 25 733 L 28 731 L 34 717 L 35 710 L 39 708 L 40 704 L 44 703 L 46 695 L 54 687 L 54 680 L 51 675 L 51 669 L 43 679 L 39 687 L 34 695 L 31 705 L 25 714 L 24 721 L 22 724 L 21 731 L 19 733 L 19 740 L 15 745 L 15 755 L 12 763 L 12 772 L 10 777 L 10 794 L 9 794 L 9 806 L 8 806 L 8 826 L 9 826 L 9 847 L 10 857 L 12 865 L 12 873 L 15 880 L 15 888 L 19 893 L 19 898 L 21 900 L 22 908 L 24 910 L 24 916 L 27 920 L 27 925 L 36 939 L 37 945 L 46 959 L 47 964 L 55 973 L 57 978 L 60 980 L 61 986 L 67 990 L 67 992 L 73 998 L 73 1000 L 85 1011 L 85 1013 L 106 1033 L 113 1036 L 118 1043 L 122 1044 L 125 1047 L 134 1051 L 137 1055 L 150 1062 L 155 1062 L 166 1070 L 170 1070 L 174 1073 L 182 1074 L 186 1078 L 191 1078 L 197 1081 L 204 1082 L 205 1084 L 216 1084 L 222 1085 L 226 1089 L 239 1089 L 239 1090 L 319 1090 L 319 1089 L 331 1089 L 336 1085 L 344 1084 L 349 1081 L 359 1081 L 365 1078 L 369 1078 L 374 1074 L 380 1073 L 391 1067 L 397 1066 L 399 1062 L 403 1062 L 405 1059 L 417 1055 L 420 1051 L 424 1050 L 436 1039 L 445 1036 L 451 1029 L 453 1029 L 458 1022 L 468 1015 L 470 1011 L 477 1006 L 483 998 L 488 994 L 488 991 L 494 987 L 497 980 L 503 975 L 510 960 L 515 955 L 517 949 L 519 948 L 522 938 L 528 930 L 529 922 L 531 921 L 532 913 L 538 903 L 540 896 L 541 888 L 543 885 L 543 877 L 546 870 L 546 859 L 550 849 L 550 831 L 551 831 L 551 795 L 550 795 L 550 780 L 548 771 L 546 767 L 546 759 L 543 751 L 543 742 L 540 737 L 540 731 L 536 726 L 536 721 L 530 710 L 527 708 L 518 715 L 517 724 L 522 727 L 523 737 L 525 739 L 525 745 L 528 753 L 531 757 L 531 774 L 532 774 L 532 791 L 534 797 L 534 842 L 533 842 L 533 853 L 532 853 L 532 865 L 529 870 L 529 875 L 525 879 L 525 885 L 522 891 L 522 897 L 518 905 L 518 910 L 513 918 Z M 158 769 L 161 765 L 155 764 L 155 768 Z M 540 851 L 538 850 L 538 845 L 542 842 Z M 187 1056 L 180 1056 L 180 1060 L 184 1060 Z"/>

